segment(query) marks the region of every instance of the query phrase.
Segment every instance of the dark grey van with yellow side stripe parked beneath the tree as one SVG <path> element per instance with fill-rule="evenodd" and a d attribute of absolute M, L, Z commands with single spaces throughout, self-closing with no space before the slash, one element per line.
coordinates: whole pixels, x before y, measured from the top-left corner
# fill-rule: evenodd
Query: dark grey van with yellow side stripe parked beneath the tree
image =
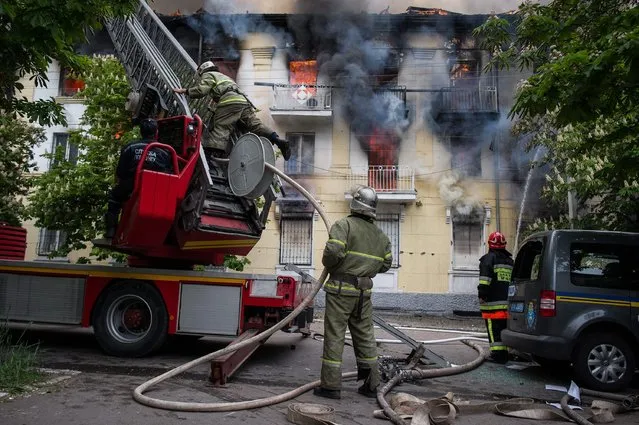
<path fill-rule="evenodd" d="M 526 238 L 508 289 L 504 343 L 586 388 L 619 391 L 639 361 L 639 233 L 553 230 Z"/>

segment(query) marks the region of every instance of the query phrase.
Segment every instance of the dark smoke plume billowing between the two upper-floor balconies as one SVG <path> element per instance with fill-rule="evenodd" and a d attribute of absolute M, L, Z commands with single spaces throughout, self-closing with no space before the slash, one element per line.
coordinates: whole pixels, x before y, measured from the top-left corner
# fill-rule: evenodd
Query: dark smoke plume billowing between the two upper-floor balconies
<path fill-rule="evenodd" d="M 377 80 L 397 63 L 393 47 L 399 41 L 379 38 L 374 17 L 356 13 L 365 6 L 364 1 L 298 2 L 289 27 L 300 58 L 317 58 L 320 75 L 340 88 L 352 131 L 364 136 L 383 130 L 400 138 L 409 126 L 404 102 Z"/>

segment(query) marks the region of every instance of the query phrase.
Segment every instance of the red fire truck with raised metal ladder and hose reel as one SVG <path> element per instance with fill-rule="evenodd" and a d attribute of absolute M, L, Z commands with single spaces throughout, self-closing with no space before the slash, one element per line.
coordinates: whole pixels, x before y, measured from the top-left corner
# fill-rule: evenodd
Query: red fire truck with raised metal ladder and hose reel
<path fill-rule="evenodd" d="M 148 355 L 168 335 L 237 340 L 267 329 L 300 304 L 311 282 L 289 272 L 195 266 L 221 266 L 226 255 L 246 255 L 259 241 L 278 193 L 278 179 L 265 167 L 274 164 L 273 147 L 245 134 L 234 137 L 228 161 L 208 161 L 201 140 L 209 105 L 172 91 L 192 83 L 193 60 L 142 0 L 136 13 L 106 28 L 133 88 L 128 109 L 135 118 L 158 119 L 157 140 L 142 153 L 115 237 L 94 241 L 128 254 L 128 263 L 20 261 L 13 248 L 0 250 L 0 318 L 92 326 L 100 347 L 116 356 Z M 171 154 L 170 172 L 143 168 L 151 149 Z M 303 331 L 312 315 L 307 308 L 287 330 Z M 224 383 L 255 348 L 216 359 L 214 382 Z"/>

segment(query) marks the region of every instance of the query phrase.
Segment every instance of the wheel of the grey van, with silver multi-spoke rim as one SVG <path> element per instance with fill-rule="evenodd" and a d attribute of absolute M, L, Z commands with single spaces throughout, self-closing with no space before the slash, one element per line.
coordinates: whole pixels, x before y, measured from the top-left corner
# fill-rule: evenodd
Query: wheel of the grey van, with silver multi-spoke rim
<path fill-rule="evenodd" d="M 580 385 L 597 391 L 619 391 L 632 381 L 635 354 L 616 333 L 595 332 L 577 342 L 575 377 Z"/>

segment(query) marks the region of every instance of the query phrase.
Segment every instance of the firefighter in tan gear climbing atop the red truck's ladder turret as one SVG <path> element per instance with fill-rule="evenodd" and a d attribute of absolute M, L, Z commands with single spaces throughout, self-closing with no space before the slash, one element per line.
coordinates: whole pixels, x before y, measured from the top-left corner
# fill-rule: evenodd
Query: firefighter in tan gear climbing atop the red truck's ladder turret
<path fill-rule="evenodd" d="M 175 88 L 178 94 L 185 94 L 192 99 L 210 95 L 215 102 L 213 128 L 210 137 L 202 141 L 207 156 L 226 156 L 230 150 L 229 140 L 236 123 L 246 131 L 266 137 L 276 145 L 286 161 L 291 157 L 289 143 L 280 139 L 273 129 L 267 127 L 255 115 L 255 107 L 240 91 L 238 85 L 229 76 L 218 71 L 217 65 L 206 61 L 197 68 L 199 81 L 197 85 L 186 88 Z"/>

